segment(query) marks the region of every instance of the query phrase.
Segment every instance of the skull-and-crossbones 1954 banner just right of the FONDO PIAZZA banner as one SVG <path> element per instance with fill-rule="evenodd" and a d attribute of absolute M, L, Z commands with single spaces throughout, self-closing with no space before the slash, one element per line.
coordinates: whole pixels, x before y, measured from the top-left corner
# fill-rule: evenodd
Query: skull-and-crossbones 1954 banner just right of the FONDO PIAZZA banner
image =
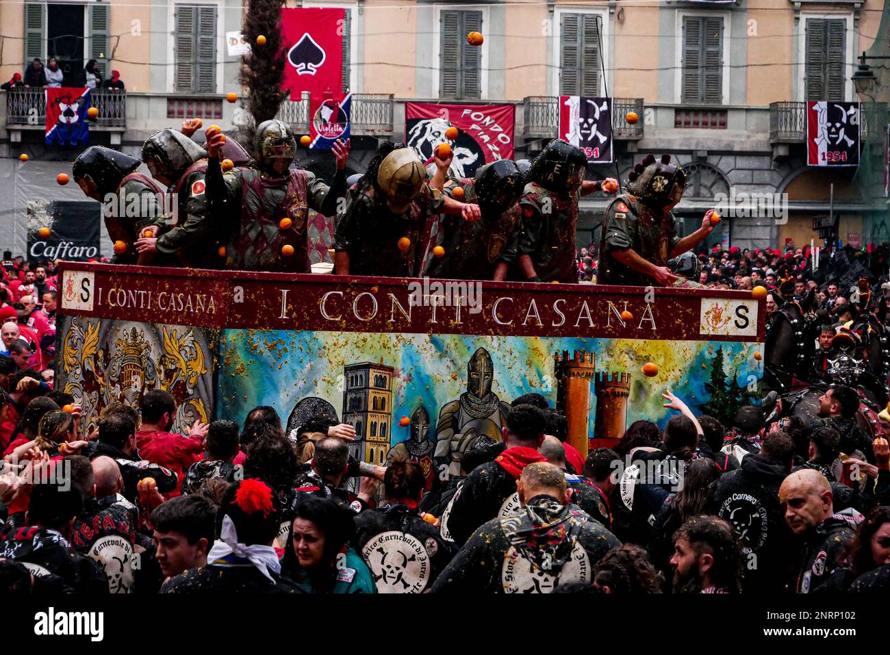
<path fill-rule="evenodd" d="M 611 98 L 561 95 L 559 138 L 578 146 L 591 164 L 611 164 Z"/>

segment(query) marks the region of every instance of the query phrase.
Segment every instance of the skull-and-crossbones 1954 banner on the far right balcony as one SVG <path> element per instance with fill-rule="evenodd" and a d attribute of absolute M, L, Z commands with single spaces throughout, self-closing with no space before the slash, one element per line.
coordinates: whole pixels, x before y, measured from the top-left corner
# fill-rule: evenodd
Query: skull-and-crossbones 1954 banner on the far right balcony
<path fill-rule="evenodd" d="M 806 103 L 806 166 L 859 166 L 859 102 Z"/>

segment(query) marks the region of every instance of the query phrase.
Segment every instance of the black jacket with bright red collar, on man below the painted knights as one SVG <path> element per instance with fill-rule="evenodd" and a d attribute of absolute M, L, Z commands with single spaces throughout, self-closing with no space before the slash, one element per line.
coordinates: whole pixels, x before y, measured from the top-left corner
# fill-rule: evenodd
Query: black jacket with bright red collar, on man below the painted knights
<path fill-rule="evenodd" d="M 473 469 L 451 501 L 448 530 L 461 546 L 482 523 L 498 516 L 506 501 L 516 493 L 522 469 L 533 462 L 546 462 L 535 449 L 508 448 L 493 462 Z"/>

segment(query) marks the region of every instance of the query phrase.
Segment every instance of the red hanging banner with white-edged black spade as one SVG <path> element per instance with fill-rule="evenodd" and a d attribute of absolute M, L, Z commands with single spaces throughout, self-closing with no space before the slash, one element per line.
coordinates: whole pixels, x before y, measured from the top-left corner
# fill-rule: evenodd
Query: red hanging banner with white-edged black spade
<path fill-rule="evenodd" d="M 303 91 L 321 97 L 325 91 L 343 89 L 343 33 L 345 11 L 301 7 L 281 10 L 281 44 L 284 81 L 291 101 L 302 100 Z"/>

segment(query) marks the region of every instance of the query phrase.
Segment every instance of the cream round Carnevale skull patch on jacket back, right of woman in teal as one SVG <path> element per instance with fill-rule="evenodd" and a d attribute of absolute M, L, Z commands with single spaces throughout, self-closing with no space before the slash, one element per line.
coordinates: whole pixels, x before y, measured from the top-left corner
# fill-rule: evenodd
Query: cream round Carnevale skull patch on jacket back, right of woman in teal
<path fill-rule="evenodd" d="M 381 594 L 419 594 L 430 579 L 430 555 L 413 535 L 381 532 L 361 549 Z"/>

